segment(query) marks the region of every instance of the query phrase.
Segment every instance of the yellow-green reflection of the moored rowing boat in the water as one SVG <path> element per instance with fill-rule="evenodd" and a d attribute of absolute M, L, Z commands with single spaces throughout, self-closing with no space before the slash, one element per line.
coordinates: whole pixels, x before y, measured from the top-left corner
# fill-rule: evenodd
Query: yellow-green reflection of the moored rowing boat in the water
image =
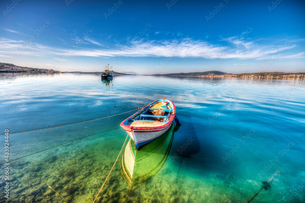
<path fill-rule="evenodd" d="M 121 171 L 131 191 L 135 185 L 147 182 L 163 167 L 180 125 L 173 122 L 167 132 L 137 150 L 130 138 L 121 157 Z"/>

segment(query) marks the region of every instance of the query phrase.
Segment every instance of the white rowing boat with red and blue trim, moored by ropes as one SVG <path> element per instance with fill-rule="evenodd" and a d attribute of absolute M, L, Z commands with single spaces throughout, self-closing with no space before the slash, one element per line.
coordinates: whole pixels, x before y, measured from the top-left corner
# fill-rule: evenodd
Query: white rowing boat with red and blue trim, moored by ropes
<path fill-rule="evenodd" d="M 122 121 L 120 126 L 128 132 L 139 150 L 143 145 L 163 135 L 175 119 L 175 114 L 174 103 L 164 97 L 142 107 L 141 110 L 139 109 L 138 112 Z"/>

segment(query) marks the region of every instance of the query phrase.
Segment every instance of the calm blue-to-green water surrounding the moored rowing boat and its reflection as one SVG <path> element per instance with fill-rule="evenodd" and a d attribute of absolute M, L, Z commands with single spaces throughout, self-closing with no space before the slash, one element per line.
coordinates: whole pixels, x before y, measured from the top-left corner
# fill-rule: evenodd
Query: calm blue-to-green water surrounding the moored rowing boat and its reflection
<path fill-rule="evenodd" d="M 251 202 L 305 201 L 304 80 L 116 76 L 106 84 L 91 74 L 1 73 L 0 84 L 2 135 L 120 114 L 163 97 L 175 103 L 182 125 L 160 171 L 129 192 L 118 161 L 97 202 L 246 202 L 270 177 L 270 191 Z M 92 202 L 126 138 L 120 122 L 134 112 L 10 135 L 9 160 L 17 160 L 9 165 L 10 198 L 2 193 L 0 201 Z"/>

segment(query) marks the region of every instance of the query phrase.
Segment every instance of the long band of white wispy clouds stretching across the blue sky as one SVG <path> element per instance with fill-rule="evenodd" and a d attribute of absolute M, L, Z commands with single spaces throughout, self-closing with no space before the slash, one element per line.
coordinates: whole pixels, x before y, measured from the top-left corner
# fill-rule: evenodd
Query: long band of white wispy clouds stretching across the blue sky
<path fill-rule="evenodd" d="M 130 39 L 127 43 L 117 42 L 111 47 L 105 47 L 96 40 L 84 38 L 86 41 L 97 45 L 98 48 L 91 48 L 90 44 L 84 43 L 75 48 L 63 49 L 50 47 L 32 42 L 16 41 L 7 38 L 0 38 L 0 54 L 13 56 L 16 54 L 29 56 L 52 56 L 60 58 L 65 53 L 70 56 L 95 56 L 95 57 L 200 57 L 206 59 L 264 59 L 270 57 L 278 58 L 304 58 L 304 52 L 290 53 L 285 55 L 285 50 L 296 47 L 296 44 L 287 45 L 261 45 L 254 41 L 245 41 L 236 37 L 227 38 L 230 46 L 212 44 L 203 40 L 193 38 L 180 39 Z M 90 47 L 90 48 L 89 48 Z"/>

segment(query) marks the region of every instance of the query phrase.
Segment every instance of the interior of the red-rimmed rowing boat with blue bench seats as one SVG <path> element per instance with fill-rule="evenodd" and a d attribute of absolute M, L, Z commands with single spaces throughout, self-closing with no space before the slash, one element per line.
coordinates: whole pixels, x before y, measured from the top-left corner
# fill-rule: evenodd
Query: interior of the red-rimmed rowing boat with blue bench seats
<path fill-rule="evenodd" d="M 164 125 L 169 120 L 172 111 L 174 109 L 169 102 L 157 101 L 149 107 L 144 107 L 138 114 L 129 118 L 126 125 L 136 127 Z"/>

